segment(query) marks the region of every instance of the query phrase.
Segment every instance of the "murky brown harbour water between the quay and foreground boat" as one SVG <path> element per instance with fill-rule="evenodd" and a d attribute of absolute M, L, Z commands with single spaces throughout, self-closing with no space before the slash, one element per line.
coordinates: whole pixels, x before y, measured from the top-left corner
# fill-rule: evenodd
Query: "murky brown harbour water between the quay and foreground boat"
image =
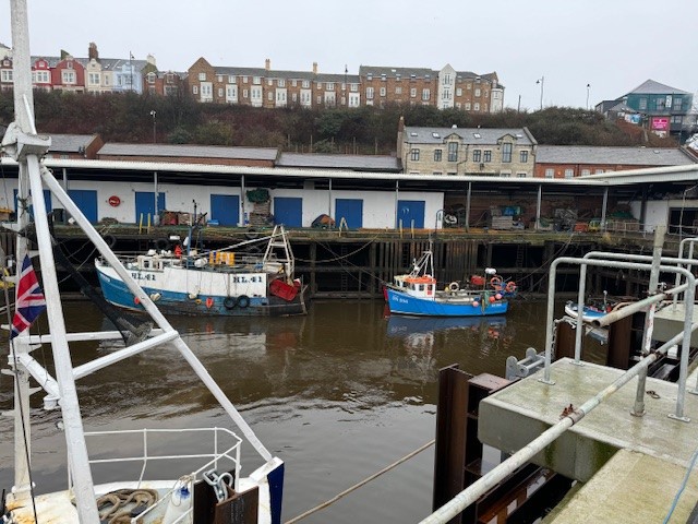
<path fill-rule="evenodd" d="M 69 332 L 111 329 L 89 302 L 65 302 L 64 311 Z M 378 300 L 329 300 L 313 302 L 308 317 L 170 321 L 262 442 L 287 463 L 287 521 L 431 441 L 438 369 L 458 364 L 472 374 L 503 376 L 506 357 L 542 349 L 544 317 L 544 301 L 517 300 L 506 317 L 446 321 L 389 317 Z M 108 354 L 110 344 L 71 345 L 73 365 Z M 34 355 L 51 359 L 49 347 Z M 77 386 L 87 430 L 139 429 L 145 417 L 163 428 L 228 425 L 173 348 L 133 357 Z M 32 397 L 39 492 L 67 477 L 60 413 L 39 409 L 41 396 Z M 1 410 L 11 409 L 11 398 L 12 379 L 2 374 Z M 146 408 L 142 401 L 154 398 L 155 410 Z M 11 428 L 1 417 L 0 488 L 12 486 Z M 302 522 L 418 522 L 431 513 L 433 452 Z M 243 467 L 245 457 L 252 458 L 250 449 Z"/>

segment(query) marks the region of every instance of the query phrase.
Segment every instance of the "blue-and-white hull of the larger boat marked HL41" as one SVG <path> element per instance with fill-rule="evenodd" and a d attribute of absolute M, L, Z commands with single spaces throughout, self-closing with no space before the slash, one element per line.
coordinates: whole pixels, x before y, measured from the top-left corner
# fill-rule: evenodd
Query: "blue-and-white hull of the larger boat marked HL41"
<path fill-rule="evenodd" d="M 123 309 L 144 311 L 117 272 L 97 262 L 105 300 Z M 305 314 L 305 288 L 292 300 L 268 294 L 266 274 L 232 274 L 186 269 L 134 272 L 144 293 L 166 314 L 213 317 L 279 317 Z M 262 281 L 253 282 L 250 281 Z M 237 282 L 236 282 L 237 281 Z"/>

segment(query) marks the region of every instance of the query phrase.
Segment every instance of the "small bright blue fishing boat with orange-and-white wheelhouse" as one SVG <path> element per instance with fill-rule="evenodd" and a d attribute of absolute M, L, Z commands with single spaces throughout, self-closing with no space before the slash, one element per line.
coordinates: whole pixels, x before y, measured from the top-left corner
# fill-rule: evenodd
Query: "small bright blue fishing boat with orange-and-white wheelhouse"
<path fill-rule="evenodd" d="M 390 313 L 423 317 L 489 317 L 505 314 L 508 298 L 516 294 L 516 284 L 505 282 L 494 269 L 485 270 L 490 277 L 482 286 L 464 287 L 452 282 L 438 289 L 434 277 L 434 257 L 431 250 L 417 260 L 408 274 L 396 275 L 385 286 Z"/>

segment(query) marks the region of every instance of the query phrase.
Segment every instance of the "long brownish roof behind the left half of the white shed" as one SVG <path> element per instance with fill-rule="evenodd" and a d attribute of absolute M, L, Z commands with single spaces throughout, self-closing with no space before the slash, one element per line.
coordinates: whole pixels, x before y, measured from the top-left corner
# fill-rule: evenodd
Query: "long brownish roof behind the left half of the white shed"
<path fill-rule="evenodd" d="M 275 147 L 226 147 L 217 145 L 179 144 L 117 144 L 108 143 L 98 155 L 116 156 L 161 156 L 196 158 L 240 158 L 249 160 L 274 162 L 278 151 Z"/>

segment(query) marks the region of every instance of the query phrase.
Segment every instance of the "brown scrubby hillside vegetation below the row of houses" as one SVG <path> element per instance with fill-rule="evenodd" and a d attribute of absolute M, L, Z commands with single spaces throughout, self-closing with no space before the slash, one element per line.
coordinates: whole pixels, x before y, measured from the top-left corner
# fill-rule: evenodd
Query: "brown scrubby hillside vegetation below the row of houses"
<path fill-rule="evenodd" d="M 406 126 L 459 128 L 528 127 L 540 144 L 677 144 L 637 126 L 610 122 L 583 109 L 550 107 L 541 111 L 505 110 L 473 115 L 428 106 L 384 109 L 264 109 L 200 104 L 190 96 L 35 92 L 37 129 L 45 133 L 98 133 L 105 142 L 209 144 L 282 147 L 302 153 L 390 154 L 396 151 L 400 116 Z M 155 121 L 151 111 L 156 111 Z M 0 93 L 0 123 L 13 120 L 12 92 Z"/>

